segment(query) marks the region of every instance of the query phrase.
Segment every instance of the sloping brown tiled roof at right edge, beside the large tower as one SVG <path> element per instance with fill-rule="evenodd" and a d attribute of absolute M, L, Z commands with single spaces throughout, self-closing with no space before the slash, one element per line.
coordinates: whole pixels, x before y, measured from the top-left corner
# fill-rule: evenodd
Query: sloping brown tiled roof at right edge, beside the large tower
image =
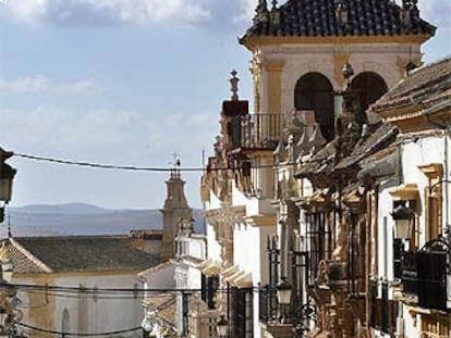
<path fill-rule="evenodd" d="M 451 58 L 423 66 L 410 73 L 373 107 L 381 113 L 416 103 L 429 108 L 451 101 Z"/>

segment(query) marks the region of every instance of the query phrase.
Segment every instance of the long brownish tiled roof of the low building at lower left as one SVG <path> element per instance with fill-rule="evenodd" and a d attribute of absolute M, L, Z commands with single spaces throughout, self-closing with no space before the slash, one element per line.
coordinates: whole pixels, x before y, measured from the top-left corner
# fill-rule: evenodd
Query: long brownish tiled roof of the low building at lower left
<path fill-rule="evenodd" d="M 17 273 L 134 271 L 160 263 L 127 237 L 22 237 L 10 240 Z"/>

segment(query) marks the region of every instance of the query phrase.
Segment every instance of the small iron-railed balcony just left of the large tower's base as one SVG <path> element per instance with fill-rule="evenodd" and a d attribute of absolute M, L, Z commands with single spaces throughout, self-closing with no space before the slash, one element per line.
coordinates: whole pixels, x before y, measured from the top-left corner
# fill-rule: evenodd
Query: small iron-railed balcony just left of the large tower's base
<path fill-rule="evenodd" d="M 281 136 L 280 114 L 246 114 L 231 117 L 232 152 L 275 150 Z"/>

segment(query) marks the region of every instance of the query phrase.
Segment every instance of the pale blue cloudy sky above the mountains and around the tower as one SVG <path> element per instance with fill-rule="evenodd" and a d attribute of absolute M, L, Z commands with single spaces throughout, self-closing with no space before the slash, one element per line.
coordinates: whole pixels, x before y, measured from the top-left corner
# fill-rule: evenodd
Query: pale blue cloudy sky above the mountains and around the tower
<path fill-rule="evenodd" d="M 229 73 L 251 98 L 237 43 L 257 0 L 0 1 L 0 146 L 20 153 L 138 166 L 200 166 L 211 151 Z M 420 0 L 438 26 L 424 48 L 451 52 L 451 4 Z M 166 174 L 13 159 L 12 205 L 87 202 L 160 208 Z M 198 174 L 186 192 L 200 206 Z"/>

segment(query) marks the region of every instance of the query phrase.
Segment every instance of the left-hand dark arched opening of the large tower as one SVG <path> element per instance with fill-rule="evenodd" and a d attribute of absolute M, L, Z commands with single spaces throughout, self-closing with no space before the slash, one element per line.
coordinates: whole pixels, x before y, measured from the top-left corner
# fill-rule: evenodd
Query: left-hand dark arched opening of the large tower
<path fill-rule="evenodd" d="M 329 141 L 334 135 L 333 87 L 320 73 L 307 73 L 296 83 L 294 108 L 315 111 L 322 136 Z"/>

